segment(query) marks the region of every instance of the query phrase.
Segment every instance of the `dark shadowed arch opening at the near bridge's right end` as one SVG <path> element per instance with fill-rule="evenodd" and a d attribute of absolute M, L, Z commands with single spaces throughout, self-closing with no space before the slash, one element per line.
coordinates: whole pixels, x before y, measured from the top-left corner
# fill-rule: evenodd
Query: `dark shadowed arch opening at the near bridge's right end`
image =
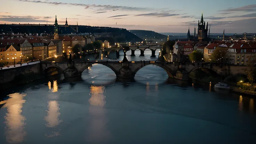
<path fill-rule="evenodd" d="M 189 77 L 192 80 L 202 80 L 205 82 L 218 83 L 222 80 L 222 76 L 214 70 L 206 67 L 198 67 L 189 73 Z M 194 81 L 193 81 L 194 83 Z"/>

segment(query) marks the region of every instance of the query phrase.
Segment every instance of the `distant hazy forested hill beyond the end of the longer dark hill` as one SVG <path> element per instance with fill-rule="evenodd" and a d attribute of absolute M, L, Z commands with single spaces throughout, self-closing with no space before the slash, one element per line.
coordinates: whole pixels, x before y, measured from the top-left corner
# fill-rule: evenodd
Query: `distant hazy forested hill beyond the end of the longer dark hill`
<path fill-rule="evenodd" d="M 163 35 L 154 31 L 146 31 L 146 30 L 128 30 L 131 33 L 135 34 L 137 37 L 141 39 L 163 39 L 167 40 L 167 35 Z"/>

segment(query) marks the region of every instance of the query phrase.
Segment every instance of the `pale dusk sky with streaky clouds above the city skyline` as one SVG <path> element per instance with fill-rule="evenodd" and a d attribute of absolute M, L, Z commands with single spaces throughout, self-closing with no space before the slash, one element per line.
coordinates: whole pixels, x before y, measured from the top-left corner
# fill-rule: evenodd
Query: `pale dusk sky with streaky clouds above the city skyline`
<path fill-rule="evenodd" d="M 202 11 L 211 33 L 256 33 L 256 0 L 0 0 L 0 24 L 109 26 L 194 33 Z"/>

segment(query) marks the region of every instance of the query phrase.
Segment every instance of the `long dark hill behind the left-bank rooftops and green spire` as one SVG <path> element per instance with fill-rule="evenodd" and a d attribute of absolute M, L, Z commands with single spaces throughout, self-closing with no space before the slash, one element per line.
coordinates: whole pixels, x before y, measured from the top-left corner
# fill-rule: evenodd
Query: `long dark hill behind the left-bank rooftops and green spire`
<path fill-rule="evenodd" d="M 87 25 L 58 25 L 59 35 L 78 35 L 81 33 L 88 33 L 95 37 L 122 37 L 127 42 L 139 42 L 141 38 L 135 34 L 127 31 L 126 29 L 113 28 L 113 27 L 100 27 L 100 26 L 87 26 Z M 40 25 L 40 24 L 0 24 L 1 33 L 22 33 L 28 35 L 36 35 L 42 33 L 53 34 L 54 25 Z"/>

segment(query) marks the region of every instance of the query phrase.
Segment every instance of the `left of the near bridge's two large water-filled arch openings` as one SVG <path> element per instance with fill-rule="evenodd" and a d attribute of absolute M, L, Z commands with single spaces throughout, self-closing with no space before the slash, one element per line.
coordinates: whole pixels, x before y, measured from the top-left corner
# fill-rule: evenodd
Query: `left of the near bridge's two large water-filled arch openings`
<path fill-rule="evenodd" d="M 96 63 L 87 67 L 82 72 L 81 78 L 91 85 L 106 85 L 115 82 L 117 76 L 110 67 Z"/>

